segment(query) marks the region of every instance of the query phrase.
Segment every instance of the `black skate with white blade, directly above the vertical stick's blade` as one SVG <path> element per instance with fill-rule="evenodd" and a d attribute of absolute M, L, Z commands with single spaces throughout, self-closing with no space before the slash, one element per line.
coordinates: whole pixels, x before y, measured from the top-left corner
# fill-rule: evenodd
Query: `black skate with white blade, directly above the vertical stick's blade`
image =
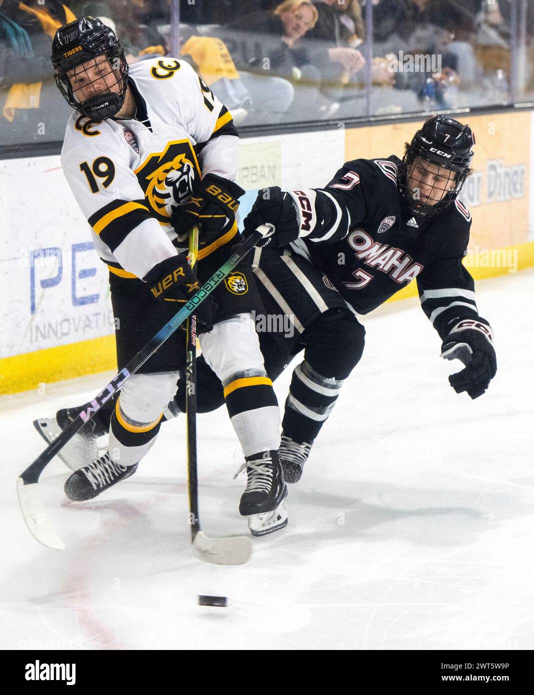
<path fill-rule="evenodd" d="M 239 514 L 248 517 L 248 528 L 253 536 L 284 528 L 287 512 L 284 500 L 287 486 L 284 482 L 278 452 L 264 451 L 247 457 L 238 473 L 247 468 L 247 486 L 239 502 Z"/>

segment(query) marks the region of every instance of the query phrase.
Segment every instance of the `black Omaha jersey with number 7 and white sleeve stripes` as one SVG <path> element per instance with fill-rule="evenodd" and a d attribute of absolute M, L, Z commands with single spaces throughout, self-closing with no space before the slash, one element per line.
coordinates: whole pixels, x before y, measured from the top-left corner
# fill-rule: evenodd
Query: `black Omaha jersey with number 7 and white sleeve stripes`
<path fill-rule="evenodd" d="M 293 246 L 357 313 L 416 279 L 423 311 L 444 338 L 458 320 L 480 319 L 462 265 L 471 214 L 458 199 L 431 218 L 408 211 L 397 188 L 400 164 L 396 156 L 356 159 L 325 188 L 290 191 L 300 225 Z"/>

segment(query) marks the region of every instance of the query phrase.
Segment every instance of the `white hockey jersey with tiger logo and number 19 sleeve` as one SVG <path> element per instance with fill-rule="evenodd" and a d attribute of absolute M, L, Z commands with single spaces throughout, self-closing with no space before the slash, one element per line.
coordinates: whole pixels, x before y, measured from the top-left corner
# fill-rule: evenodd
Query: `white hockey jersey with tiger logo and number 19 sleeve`
<path fill-rule="evenodd" d="M 182 60 L 143 60 L 129 70 L 136 118 L 70 117 L 61 164 L 86 216 L 100 258 L 121 277 L 143 277 L 186 247 L 170 224 L 172 207 L 207 173 L 234 180 L 232 115 Z M 227 243 L 236 224 L 199 258 Z M 180 241 L 184 241 L 180 244 Z"/>

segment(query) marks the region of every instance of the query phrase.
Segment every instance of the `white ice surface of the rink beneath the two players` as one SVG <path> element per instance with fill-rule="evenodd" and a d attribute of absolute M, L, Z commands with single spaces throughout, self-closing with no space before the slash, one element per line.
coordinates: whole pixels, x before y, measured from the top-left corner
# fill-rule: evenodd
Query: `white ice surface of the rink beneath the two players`
<path fill-rule="evenodd" d="M 42 496 L 67 546 L 40 546 L 17 475 L 43 443 L 32 420 L 88 400 L 109 375 L 0 398 L 1 648 L 534 648 L 534 272 L 478 283 L 499 372 L 456 395 L 416 300 L 364 319 L 364 357 L 343 388 L 286 530 L 248 564 L 200 562 L 187 526 L 185 420 L 162 427 L 136 475 L 93 502 Z M 284 402 L 289 370 L 277 382 Z M 225 409 L 199 416 L 200 516 L 247 533 L 241 452 Z M 228 607 L 197 605 L 197 594 Z"/>

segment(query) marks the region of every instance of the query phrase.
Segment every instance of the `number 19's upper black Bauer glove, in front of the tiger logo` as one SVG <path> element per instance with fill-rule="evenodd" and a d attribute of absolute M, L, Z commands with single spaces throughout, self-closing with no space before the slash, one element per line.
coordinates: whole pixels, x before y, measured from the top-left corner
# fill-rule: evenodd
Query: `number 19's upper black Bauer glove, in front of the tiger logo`
<path fill-rule="evenodd" d="M 184 238 L 193 224 L 200 224 L 200 247 L 211 244 L 232 229 L 239 207 L 238 198 L 243 193 L 243 188 L 234 181 L 206 174 L 193 188 L 188 201 L 173 209 L 172 227 L 179 237 Z"/>

